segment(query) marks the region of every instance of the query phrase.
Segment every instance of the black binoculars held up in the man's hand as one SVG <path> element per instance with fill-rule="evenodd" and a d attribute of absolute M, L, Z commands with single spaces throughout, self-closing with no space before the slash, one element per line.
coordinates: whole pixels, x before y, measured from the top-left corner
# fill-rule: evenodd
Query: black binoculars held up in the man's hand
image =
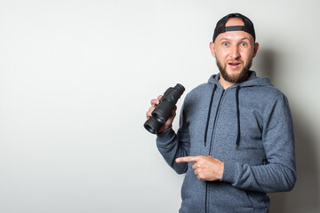
<path fill-rule="evenodd" d="M 144 123 L 146 130 L 156 134 L 161 126 L 172 116 L 172 110 L 180 99 L 185 88 L 177 83 L 175 87 L 170 87 L 164 92 L 159 104 L 152 111 L 152 116 Z"/>

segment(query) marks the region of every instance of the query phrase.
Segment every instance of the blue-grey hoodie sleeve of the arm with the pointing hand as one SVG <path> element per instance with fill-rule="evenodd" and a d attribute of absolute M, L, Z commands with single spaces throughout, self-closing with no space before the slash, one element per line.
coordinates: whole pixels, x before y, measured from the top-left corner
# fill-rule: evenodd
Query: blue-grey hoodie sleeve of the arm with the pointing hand
<path fill-rule="evenodd" d="M 288 100 L 282 94 L 264 116 L 262 143 L 266 165 L 251 166 L 239 162 L 225 162 L 221 181 L 244 190 L 263 193 L 292 190 L 297 179 L 292 115 Z"/>

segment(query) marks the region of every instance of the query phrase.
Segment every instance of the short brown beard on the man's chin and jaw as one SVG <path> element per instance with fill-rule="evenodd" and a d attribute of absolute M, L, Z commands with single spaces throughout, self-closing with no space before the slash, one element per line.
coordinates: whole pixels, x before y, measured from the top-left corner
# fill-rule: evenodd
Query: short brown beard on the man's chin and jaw
<path fill-rule="evenodd" d="M 223 67 L 218 59 L 216 59 L 216 62 L 220 70 L 220 75 L 222 75 L 223 79 L 229 83 L 242 83 L 249 78 L 249 69 L 252 67 L 252 59 L 250 59 L 248 64 L 240 70 L 238 75 L 228 75 L 227 66 Z"/>

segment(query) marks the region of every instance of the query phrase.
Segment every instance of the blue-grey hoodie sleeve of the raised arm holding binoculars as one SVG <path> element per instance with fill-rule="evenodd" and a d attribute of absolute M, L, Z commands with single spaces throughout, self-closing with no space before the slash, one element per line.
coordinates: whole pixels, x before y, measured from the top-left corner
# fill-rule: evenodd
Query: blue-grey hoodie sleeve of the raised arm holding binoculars
<path fill-rule="evenodd" d="M 176 134 L 172 128 L 158 134 L 156 138 L 156 146 L 173 170 L 178 174 L 183 174 L 188 170 L 188 163 L 177 163 L 175 159 L 189 155 L 190 139 L 188 134 L 188 122 L 184 114 L 184 106 L 180 113 L 180 128 Z"/>

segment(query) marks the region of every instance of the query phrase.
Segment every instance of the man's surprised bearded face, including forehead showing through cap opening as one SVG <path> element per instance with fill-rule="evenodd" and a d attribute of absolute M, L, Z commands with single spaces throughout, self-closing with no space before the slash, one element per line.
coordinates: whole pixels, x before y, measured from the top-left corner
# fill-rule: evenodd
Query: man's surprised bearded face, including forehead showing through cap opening
<path fill-rule="evenodd" d="M 226 26 L 244 26 L 238 18 L 231 18 Z M 241 83 L 248 78 L 259 43 L 244 31 L 228 31 L 220 34 L 210 43 L 213 57 L 216 58 L 221 77 L 229 83 Z"/>

